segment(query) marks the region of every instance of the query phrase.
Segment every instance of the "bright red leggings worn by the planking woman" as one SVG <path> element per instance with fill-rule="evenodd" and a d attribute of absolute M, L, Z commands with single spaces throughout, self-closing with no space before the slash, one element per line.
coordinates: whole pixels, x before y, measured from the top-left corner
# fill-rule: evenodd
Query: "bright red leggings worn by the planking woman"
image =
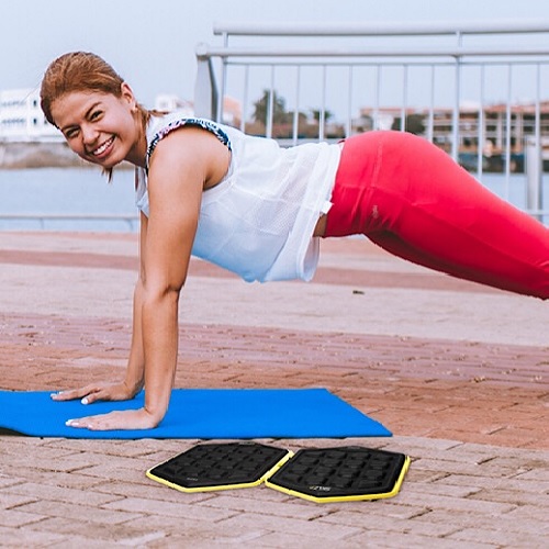
<path fill-rule="evenodd" d="M 549 229 L 402 132 L 346 139 L 326 237 L 363 234 L 415 264 L 549 298 Z"/>

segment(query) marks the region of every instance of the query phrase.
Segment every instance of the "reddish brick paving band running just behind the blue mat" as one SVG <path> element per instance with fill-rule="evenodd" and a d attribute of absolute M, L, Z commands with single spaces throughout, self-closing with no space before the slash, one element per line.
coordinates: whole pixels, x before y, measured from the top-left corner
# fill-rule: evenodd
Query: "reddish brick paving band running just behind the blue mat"
<path fill-rule="evenodd" d="M 123 373 L 128 324 L 0 315 L 0 326 L 3 389 Z M 193 324 L 180 348 L 177 386 L 326 386 L 395 434 L 549 449 L 540 348 Z"/>

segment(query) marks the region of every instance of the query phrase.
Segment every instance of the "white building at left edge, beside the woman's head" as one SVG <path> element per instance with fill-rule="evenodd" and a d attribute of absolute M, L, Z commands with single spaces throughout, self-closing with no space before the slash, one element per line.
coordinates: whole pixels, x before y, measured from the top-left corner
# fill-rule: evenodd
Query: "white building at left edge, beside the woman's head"
<path fill-rule="evenodd" d="M 63 141 L 60 132 L 47 122 L 40 108 L 38 90 L 0 91 L 0 141 Z"/>

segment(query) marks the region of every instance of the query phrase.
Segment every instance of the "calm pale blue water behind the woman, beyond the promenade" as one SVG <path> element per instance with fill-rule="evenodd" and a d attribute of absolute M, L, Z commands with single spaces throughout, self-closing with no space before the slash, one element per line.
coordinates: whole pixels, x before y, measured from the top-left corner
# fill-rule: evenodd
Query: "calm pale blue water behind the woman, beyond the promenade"
<path fill-rule="evenodd" d="M 484 173 L 482 181 L 516 206 L 526 206 L 524 175 L 513 175 L 508 184 L 498 173 Z M 549 211 L 549 175 L 544 177 L 542 192 L 542 209 Z M 16 215 L 22 217 L 13 217 Z M 79 219 L 63 219 L 64 215 Z M 93 219 L 101 215 L 112 219 Z M 2 231 L 135 232 L 138 229 L 133 169 L 115 170 L 111 183 L 93 168 L 0 170 Z M 549 224 L 549 215 L 544 222 Z"/>

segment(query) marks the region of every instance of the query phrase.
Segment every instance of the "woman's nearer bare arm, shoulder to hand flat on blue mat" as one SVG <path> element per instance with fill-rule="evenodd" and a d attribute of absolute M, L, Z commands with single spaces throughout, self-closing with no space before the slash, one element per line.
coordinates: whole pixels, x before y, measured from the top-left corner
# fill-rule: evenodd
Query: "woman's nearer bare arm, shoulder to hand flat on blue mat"
<path fill-rule="evenodd" d="M 226 147 L 199 128 L 178 130 L 156 147 L 148 176 L 150 214 L 142 236 L 130 362 L 144 363 L 145 406 L 76 419 L 71 426 L 152 428 L 165 416 L 177 366 L 179 294 L 187 278 L 202 190 L 221 180 L 228 161 Z M 135 381 L 138 371 L 128 366 L 126 382 Z"/>

